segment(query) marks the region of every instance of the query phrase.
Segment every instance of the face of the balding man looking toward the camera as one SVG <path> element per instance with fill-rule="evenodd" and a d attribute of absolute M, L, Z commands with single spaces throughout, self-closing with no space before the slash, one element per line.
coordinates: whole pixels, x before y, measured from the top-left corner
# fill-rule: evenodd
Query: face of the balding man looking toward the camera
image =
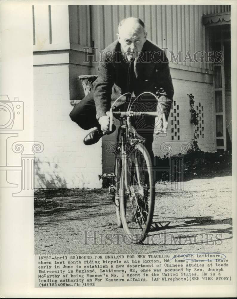
<path fill-rule="evenodd" d="M 127 28 L 127 26 L 123 24 L 117 36 L 121 44 L 121 50 L 135 58 L 138 53 L 141 52 L 147 38 L 147 33 L 144 32 L 141 25 L 136 24 L 135 26 Z"/>

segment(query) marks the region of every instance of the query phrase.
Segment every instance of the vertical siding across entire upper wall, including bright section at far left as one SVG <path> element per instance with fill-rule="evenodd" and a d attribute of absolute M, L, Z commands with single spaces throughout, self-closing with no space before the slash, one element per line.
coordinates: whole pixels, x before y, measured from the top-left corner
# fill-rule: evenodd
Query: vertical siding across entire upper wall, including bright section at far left
<path fill-rule="evenodd" d="M 69 39 L 70 43 L 83 46 L 91 46 L 91 41 L 95 40 L 95 46 L 103 49 L 116 39 L 118 22 L 135 16 L 145 22 L 148 39 L 159 47 L 173 51 L 175 57 L 178 51 L 183 51 L 184 57 L 190 51 L 193 57 L 196 50 L 204 49 L 202 15 L 228 11 L 230 5 L 33 6 L 34 51 L 65 47 Z M 209 67 L 188 60 L 182 64 Z"/>

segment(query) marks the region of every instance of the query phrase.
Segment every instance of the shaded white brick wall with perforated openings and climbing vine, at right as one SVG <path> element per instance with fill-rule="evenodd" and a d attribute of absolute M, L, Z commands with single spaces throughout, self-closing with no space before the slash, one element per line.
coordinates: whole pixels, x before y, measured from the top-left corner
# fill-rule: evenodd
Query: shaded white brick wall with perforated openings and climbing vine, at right
<path fill-rule="evenodd" d="M 195 97 L 194 108 L 196 109 L 196 106 L 198 106 L 199 103 L 201 103 L 201 106 L 203 106 L 203 111 L 201 112 L 203 113 L 202 120 L 204 120 L 204 124 L 202 124 L 202 127 L 204 127 L 204 138 L 202 138 L 202 135 L 199 136 L 197 139 L 198 146 L 204 152 L 213 152 L 216 150 L 216 140 L 214 134 L 216 128 L 214 126 L 215 115 L 213 110 L 213 85 L 210 83 L 173 79 L 173 86 L 175 91 L 173 100 L 176 102 L 176 106 L 173 105 L 173 109 L 170 112 L 169 130 L 167 136 L 161 137 L 158 135 L 154 137 L 154 154 L 163 157 L 164 153 L 161 151 L 160 145 L 164 141 L 171 144 L 172 154 L 180 153 L 180 147 L 182 144 L 185 144 L 186 142 L 190 142 L 191 144 L 193 143 L 192 138 L 194 136 L 194 126 L 190 123 L 191 114 L 189 97 L 187 95 L 190 93 L 192 93 Z M 171 121 L 173 119 L 171 117 L 171 113 L 174 112 L 174 109 L 177 108 L 177 105 L 179 106 L 179 110 L 176 111 L 179 113 L 179 126 L 177 126 L 177 129 L 179 128 L 179 133 L 177 132 L 177 129 L 174 129 L 174 131 L 176 131 L 177 135 L 180 136 L 179 140 L 174 136 L 174 132 L 171 132 Z M 174 136 L 173 141 L 171 139 L 172 135 Z"/>

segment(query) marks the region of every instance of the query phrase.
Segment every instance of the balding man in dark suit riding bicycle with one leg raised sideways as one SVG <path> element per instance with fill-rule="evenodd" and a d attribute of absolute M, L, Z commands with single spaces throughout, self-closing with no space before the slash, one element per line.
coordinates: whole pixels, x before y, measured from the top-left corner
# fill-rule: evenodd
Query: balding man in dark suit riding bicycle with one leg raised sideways
<path fill-rule="evenodd" d="M 115 42 L 103 50 L 93 91 L 74 106 L 70 117 L 82 129 L 96 127 L 84 138 L 84 144 L 94 144 L 103 135 L 115 131 L 114 124 L 110 131 L 108 111 L 119 96 L 128 93 L 129 97 L 138 97 L 133 105 L 134 111 L 156 111 L 157 100 L 149 97 L 149 94 L 139 97 L 145 91 L 156 94 L 164 116 L 161 122 L 142 117 L 133 123 L 138 134 L 144 138 L 148 152 L 153 155 L 154 129 L 157 132 L 167 129 L 174 94 L 168 60 L 163 50 L 147 40 L 145 25 L 140 19 L 123 19 L 118 25 L 117 37 Z M 121 97 L 121 110 L 126 109 L 129 97 Z"/>

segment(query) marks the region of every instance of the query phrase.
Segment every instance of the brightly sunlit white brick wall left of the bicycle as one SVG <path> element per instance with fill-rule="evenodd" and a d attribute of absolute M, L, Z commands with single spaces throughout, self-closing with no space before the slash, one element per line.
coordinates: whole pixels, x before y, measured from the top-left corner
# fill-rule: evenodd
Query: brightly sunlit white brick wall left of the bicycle
<path fill-rule="evenodd" d="M 68 65 L 34 67 L 34 138 L 44 144 L 36 156 L 35 188 L 101 187 L 101 142 L 83 144 L 86 131 L 69 117 L 69 86 Z"/>

